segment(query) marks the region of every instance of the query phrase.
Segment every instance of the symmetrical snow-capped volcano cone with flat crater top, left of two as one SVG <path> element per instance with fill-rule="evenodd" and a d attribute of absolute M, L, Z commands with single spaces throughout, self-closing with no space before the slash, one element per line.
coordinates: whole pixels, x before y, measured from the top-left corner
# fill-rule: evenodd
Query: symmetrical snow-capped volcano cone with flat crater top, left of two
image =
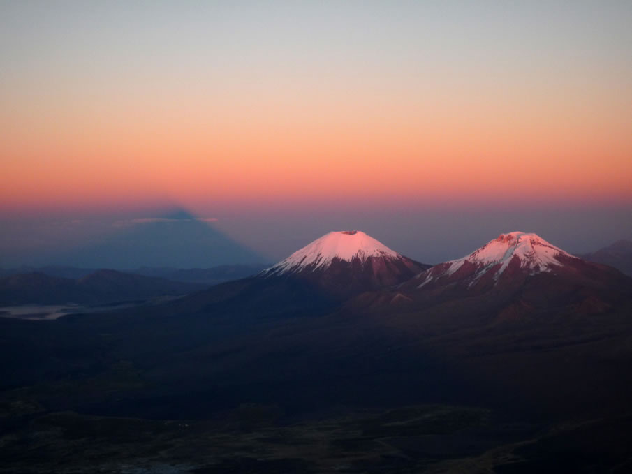
<path fill-rule="evenodd" d="M 329 232 L 259 275 L 295 276 L 335 292 L 395 285 L 429 268 L 359 230 Z"/>

